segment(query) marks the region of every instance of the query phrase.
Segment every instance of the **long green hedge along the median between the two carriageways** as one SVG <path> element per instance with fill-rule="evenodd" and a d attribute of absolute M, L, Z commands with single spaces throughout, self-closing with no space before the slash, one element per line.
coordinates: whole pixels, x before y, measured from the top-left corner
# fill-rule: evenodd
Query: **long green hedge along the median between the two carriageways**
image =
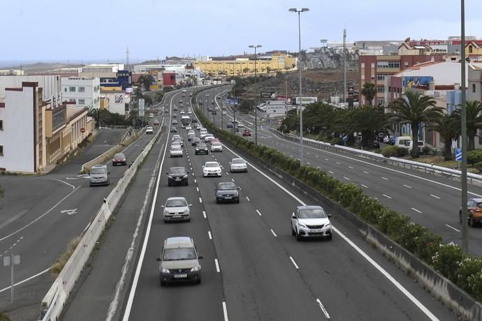
<path fill-rule="evenodd" d="M 307 184 L 314 191 L 342 205 L 458 285 L 474 299 L 482 301 L 482 259 L 480 257 L 463 254 L 460 246 L 455 244 L 443 244 L 439 235 L 430 232 L 423 225 L 412 223 L 408 216 L 402 216 L 378 200 L 374 200 L 363 193 L 356 184 L 342 183 L 314 167 L 300 167 L 299 160 L 289 158 L 276 149 L 263 145 L 256 146 L 254 142 L 244 137 L 217 128 L 198 109 L 197 114 L 200 115 L 200 121 L 205 124 L 205 127 L 217 137 L 251 156 L 274 165 Z"/>

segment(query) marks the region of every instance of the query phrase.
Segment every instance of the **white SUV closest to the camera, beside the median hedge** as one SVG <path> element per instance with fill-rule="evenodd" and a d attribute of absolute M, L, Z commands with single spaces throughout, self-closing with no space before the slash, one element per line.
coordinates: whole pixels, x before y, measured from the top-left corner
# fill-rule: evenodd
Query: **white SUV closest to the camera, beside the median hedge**
<path fill-rule="evenodd" d="M 330 216 L 321 206 L 299 206 L 291 214 L 291 234 L 298 241 L 304 237 L 324 237 L 330 240 L 333 238 Z"/>

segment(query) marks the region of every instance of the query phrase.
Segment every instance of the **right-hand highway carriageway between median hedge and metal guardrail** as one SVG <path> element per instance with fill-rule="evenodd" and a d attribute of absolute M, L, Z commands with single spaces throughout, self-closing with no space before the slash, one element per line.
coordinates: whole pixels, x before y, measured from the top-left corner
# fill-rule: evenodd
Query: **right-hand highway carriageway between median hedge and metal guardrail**
<path fill-rule="evenodd" d="M 226 89 L 224 92 L 226 93 Z M 217 91 L 217 96 L 220 91 Z M 219 105 L 219 100 L 216 99 Z M 226 120 L 233 119 L 231 107 L 228 106 Z M 259 112 L 260 114 L 264 114 Z M 216 124 L 220 124 L 220 113 L 215 115 Z M 210 119 L 212 115 L 210 114 Z M 236 114 L 251 130 L 254 140 L 254 118 L 246 114 Z M 268 130 L 276 124 L 258 122 L 258 143 L 282 151 L 286 156 L 299 158 L 299 144 L 287 140 Z M 224 125 L 226 128 L 226 125 Z M 381 165 L 363 158 L 337 154 L 333 151 L 306 146 L 303 148 L 304 161 L 307 165 L 318 167 L 345 183 L 357 184 L 365 193 L 376 197 L 386 206 L 400 214 L 407 215 L 411 221 L 420 223 L 436 234 L 441 235 L 446 242 L 461 242 L 461 226 L 459 222 L 460 181 L 448 177 L 439 177 L 391 165 Z M 468 197 L 482 197 L 482 187 L 469 184 Z M 469 251 L 482 256 L 482 231 L 480 227 L 469 227 Z"/>

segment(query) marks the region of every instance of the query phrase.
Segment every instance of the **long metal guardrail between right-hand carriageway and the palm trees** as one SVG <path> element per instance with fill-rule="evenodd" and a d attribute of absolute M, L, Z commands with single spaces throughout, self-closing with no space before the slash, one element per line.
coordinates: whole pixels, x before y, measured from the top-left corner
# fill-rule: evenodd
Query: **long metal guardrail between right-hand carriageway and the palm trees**
<path fill-rule="evenodd" d="M 278 135 L 288 138 L 289 140 L 300 140 L 300 137 L 293 134 L 285 134 L 279 130 L 269 128 Z M 414 162 L 413 160 L 407 160 L 396 157 L 385 157 L 381 154 L 374 153 L 372 151 L 363 151 L 351 147 L 332 145 L 328 142 L 321 142 L 319 140 L 311 140 L 309 138 L 303 138 L 303 144 L 311 145 L 317 148 L 326 149 L 328 151 L 334 151 L 336 153 L 349 154 L 350 156 L 357 156 L 358 158 L 365 158 L 378 163 L 385 163 L 394 165 L 397 167 L 403 167 L 404 169 L 416 170 L 417 172 L 425 172 L 428 174 L 434 174 L 438 176 L 450 177 L 453 179 L 460 179 L 460 170 L 453 170 L 451 168 L 430 165 L 425 163 Z M 467 173 L 467 182 L 474 185 L 482 186 L 482 175 Z"/>

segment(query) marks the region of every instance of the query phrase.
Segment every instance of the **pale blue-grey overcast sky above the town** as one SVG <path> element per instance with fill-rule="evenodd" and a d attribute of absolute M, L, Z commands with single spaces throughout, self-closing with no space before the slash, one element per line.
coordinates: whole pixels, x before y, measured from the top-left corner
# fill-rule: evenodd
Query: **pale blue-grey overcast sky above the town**
<path fill-rule="evenodd" d="M 456 6 L 449 6 L 455 4 Z M 0 61 L 130 61 L 166 56 L 298 50 L 320 39 L 439 39 L 460 34 L 460 1 L 448 0 L 6 0 Z M 482 36 L 482 1 L 465 0 L 466 34 Z"/>

